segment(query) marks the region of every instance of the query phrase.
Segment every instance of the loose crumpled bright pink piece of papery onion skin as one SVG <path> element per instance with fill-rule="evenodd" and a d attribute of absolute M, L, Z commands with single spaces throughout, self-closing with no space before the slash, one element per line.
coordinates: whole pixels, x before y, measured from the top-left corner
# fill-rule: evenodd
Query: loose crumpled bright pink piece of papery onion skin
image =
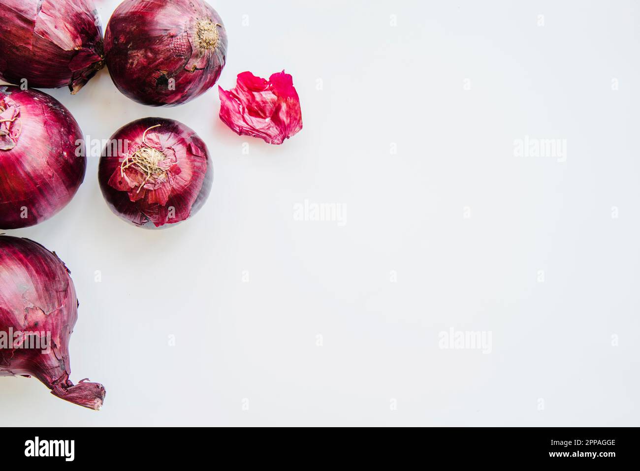
<path fill-rule="evenodd" d="M 236 88 L 220 93 L 220 119 L 239 136 L 253 136 L 282 144 L 302 129 L 300 97 L 293 77 L 284 70 L 269 80 L 243 72 Z"/>

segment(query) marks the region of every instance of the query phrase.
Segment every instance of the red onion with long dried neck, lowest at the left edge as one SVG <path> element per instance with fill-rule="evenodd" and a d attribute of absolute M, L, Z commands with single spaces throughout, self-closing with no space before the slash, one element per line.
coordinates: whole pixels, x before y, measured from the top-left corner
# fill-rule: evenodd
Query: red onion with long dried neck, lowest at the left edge
<path fill-rule="evenodd" d="M 104 387 L 69 380 L 79 306 L 69 273 L 40 244 L 0 235 L 0 376 L 35 376 L 61 399 L 98 410 Z"/>

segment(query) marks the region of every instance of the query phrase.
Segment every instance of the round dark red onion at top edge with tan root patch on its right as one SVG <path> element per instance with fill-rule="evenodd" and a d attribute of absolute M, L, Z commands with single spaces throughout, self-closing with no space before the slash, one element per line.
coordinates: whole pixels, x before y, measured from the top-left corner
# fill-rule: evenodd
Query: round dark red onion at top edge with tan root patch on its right
<path fill-rule="evenodd" d="M 151 106 L 177 106 L 202 95 L 227 60 L 227 31 L 203 0 L 124 1 L 104 41 L 113 83 Z"/>

